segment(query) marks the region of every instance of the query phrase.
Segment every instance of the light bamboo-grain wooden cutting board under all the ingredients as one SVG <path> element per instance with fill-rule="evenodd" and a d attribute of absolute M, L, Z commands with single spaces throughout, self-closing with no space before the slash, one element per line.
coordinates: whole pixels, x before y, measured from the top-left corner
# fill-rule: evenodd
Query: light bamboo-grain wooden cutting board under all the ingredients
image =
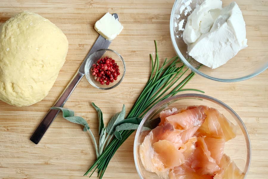
<path fill-rule="evenodd" d="M 0 23 L 28 10 L 55 23 L 66 34 L 69 51 L 56 83 L 43 101 L 29 107 L 14 107 L 0 101 L 1 179 L 78 179 L 95 161 L 89 135 L 82 127 L 58 116 L 42 141 L 29 138 L 43 116 L 66 87 L 98 37 L 94 23 L 106 12 L 118 13 L 124 26 L 110 49 L 126 61 L 124 81 L 113 90 L 101 91 L 83 78 L 65 107 L 84 117 L 97 135 L 98 120 L 91 102 L 99 106 L 105 122 L 123 104 L 129 111 L 147 82 L 149 53 L 158 42 L 161 60 L 175 55 L 169 36 L 173 0 L 1 0 Z M 264 179 L 268 173 L 268 71 L 236 83 L 220 83 L 196 75 L 189 88 L 204 90 L 233 108 L 244 121 L 252 144 L 247 179 Z M 133 159 L 134 134 L 119 148 L 104 178 L 138 179 Z M 96 174 L 92 178 L 96 178 Z"/>

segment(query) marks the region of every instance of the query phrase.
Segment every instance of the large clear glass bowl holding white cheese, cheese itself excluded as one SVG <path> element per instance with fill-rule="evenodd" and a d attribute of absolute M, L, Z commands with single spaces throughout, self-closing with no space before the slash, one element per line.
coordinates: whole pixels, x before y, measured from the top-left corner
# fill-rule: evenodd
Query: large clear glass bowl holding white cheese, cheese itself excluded
<path fill-rule="evenodd" d="M 245 49 L 230 59 L 226 64 L 216 69 L 201 66 L 187 55 L 187 45 L 183 41 L 182 33 L 175 27 L 182 19 L 185 19 L 185 27 L 188 13 L 184 15 L 184 10 L 180 14 L 180 7 L 189 0 L 176 0 L 170 17 L 170 35 L 172 45 L 182 62 L 193 72 L 216 81 L 235 82 L 252 78 L 268 67 L 268 2 L 254 0 L 236 0 L 242 11 L 246 23 L 247 45 Z M 204 0 L 192 0 L 190 7 L 195 9 L 196 4 L 201 4 Z M 230 4 L 233 0 L 222 0 L 222 6 Z M 192 11 L 191 11 L 192 12 Z M 178 18 L 180 15 L 180 18 Z M 176 24 L 176 25 L 174 25 Z M 198 70 L 197 68 L 200 67 Z"/>

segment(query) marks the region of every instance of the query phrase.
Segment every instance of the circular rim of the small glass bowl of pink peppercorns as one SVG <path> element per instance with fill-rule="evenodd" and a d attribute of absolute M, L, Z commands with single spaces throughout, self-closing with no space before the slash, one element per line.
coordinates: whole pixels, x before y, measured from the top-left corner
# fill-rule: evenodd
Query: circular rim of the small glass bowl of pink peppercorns
<path fill-rule="evenodd" d="M 124 72 L 123 72 L 123 74 L 122 74 L 121 79 L 120 79 L 115 85 L 113 85 L 113 86 L 111 86 L 111 87 L 107 87 L 107 88 L 102 88 L 102 87 L 97 86 L 96 84 L 94 84 L 94 83 L 91 81 L 90 77 L 89 77 L 88 74 L 87 74 L 87 72 L 88 72 L 88 70 L 89 70 L 90 68 L 86 68 L 86 67 L 88 66 L 88 63 L 89 63 L 89 61 L 90 61 L 90 58 L 91 58 L 93 55 L 95 55 L 97 52 L 100 52 L 100 51 L 107 51 L 107 50 L 110 51 L 110 52 L 115 53 L 115 54 L 120 58 L 120 60 L 121 60 L 122 63 L 123 63 Z M 124 58 L 123 58 L 118 52 L 116 52 L 115 50 L 111 50 L 111 49 L 99 49 L 99 50 L 96 50 L 94 53 L 92 53 L 92 54 L 88 57 L 88 59 L 87 59 L 87 61 L 86 61 L 86 63 L 85 63 L 85 76 L 86 76 L 88 82 L 89 82 L 93 87 L 95 87 L 95 88 L 97 88 L 97 89 L 100 89 L 100 90 L 110 90 L 110 89 L 113 89 L 113 88 L 117 87 L 117 86 L 123 81 L 123 79 L 124 79 L 124 77 L 125 77 L 125 74 L 126 74 L 126 64 L 125 64 Z"/>

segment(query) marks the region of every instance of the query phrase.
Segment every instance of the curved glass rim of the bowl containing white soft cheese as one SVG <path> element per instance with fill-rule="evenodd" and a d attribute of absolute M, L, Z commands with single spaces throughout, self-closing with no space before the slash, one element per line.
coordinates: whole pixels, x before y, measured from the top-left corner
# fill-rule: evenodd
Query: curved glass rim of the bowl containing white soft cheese
<path fill-rule="evenodd" d="M 259 75 L 260 73 L 264 72 L 267 67 L 263 67 L 260 70 L 258 70 L 257 72 L 253 72 L 250 75 L 246 75 L 244 77 L 241 78 L 233 78 L 233 79 L 223 79 L 223 78 L 215 78 L 209 75 L 206 75 L 205 73 L 202 73 L 201 71 L 197 70 L 196 68 L 194 68 L 187 60 L 186 58 L 184 58 L 184 56 L 182 55 L 182 53 L 180 52 L 179 47 L 177 46 L 176 40 L 175 40 L 175 36 L 174 36 L 174 23 L 173 23 L 173 18 L 174 18 L 174 13 L 175 13 L 175 6 L 177 6 L 177 3 L 179 3 L 181 0 L 176 0 L 173 4 L 172 7 L 172 11 L 171 11 L 171 15 L 170 15 L 170 20 L 169 20 L 169 33 L 170 33 L 170 37 L 171 37 L 171 42 L 172 42 L 172 46 L 176 52 L 176 54 L 179 56 L 179 58 L 181 59 L 181 61 L 188 67 L 191 69 L 192 72 L 197 73 L 198 75 L 211 79 L 211 80 L 215 80 L 215 81 L 220 81 L 220 82 L 237 82 L 237 81 L 244 81 L 250 78 L 253 78 L 257 75 Z"/>

